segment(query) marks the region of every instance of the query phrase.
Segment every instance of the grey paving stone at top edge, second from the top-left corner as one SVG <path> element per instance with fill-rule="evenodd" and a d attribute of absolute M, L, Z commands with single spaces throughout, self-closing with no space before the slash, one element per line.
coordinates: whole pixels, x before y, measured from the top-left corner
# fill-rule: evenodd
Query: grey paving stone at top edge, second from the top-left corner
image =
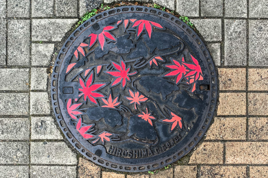
<path fill-rule="evenodd" d="M 30 0 L 7 0 L 8 17 L 29 17 Z"/>

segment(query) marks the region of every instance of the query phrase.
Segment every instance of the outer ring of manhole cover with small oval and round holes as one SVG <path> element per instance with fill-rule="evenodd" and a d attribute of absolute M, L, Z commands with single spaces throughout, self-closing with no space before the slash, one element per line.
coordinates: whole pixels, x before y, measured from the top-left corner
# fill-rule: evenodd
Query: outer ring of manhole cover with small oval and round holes
<path fill-rule="evenodd" d="M 61 115 L 61 112 L 59 110 L 59 103 L 58 103 L 58 96 L 57 96 L 57 79 L 58 79 L 58 73 L 59 69 L 62 64 L 62 59 L 64 59 L 66 52 L 69 50 L 69 47 L 72 45 L 72 43 L 76 40 L 76 38 L 79 36 L 79 34 L 84 32 L 87 28 L 95 24 L 96 22 L 110 17 L 117 14 L 122 13 L 147 13 L 154 16 L 159 16 L 164 18 L 165 20 L 168 20 L 175 25 L 177 25 L 179 28 L 183 29 L 186 33 L 191 36 L 191 38 L 198 44 L 198 47 L 200 51 L 203 52 L 204 58 L 207 59 L 207 66 L 208 70 L 210 72 L 210 91 L 211 91 L 211 100 L 209 102 L 209 109 L 206 114 L 206 119 L 204 119 L 203 123 L 201 124 L 199 128 L 199 132 L 197 132 L 194 137 L 186 144 L 186 146 L 179 150 L 178 152 L 174 153 L 173 155 L 169 156 L 165 160 L 156 161 L 150 164 L 144 164 L 144 165 L 123 165 L 118 164 L 114 162 L 110 162 L 107 160 L 104 160 L 100 158 L 99 156 L 96 156 L 94 153 L 87 150 L 85 147 L 83 147 L 77 139 L 74 138 L 68 127 L 66 127 L 66 123 L 64 122 L 64 119 Z M 53 110 L 55 117 L 57 119 L 57 122 L 59 124 L 59 127 L 63 131 L 64 135 L 68 139 L 68 141 L 75 147 L 76 150 L 78 150 L 81 154 L 83 154 L 85 157 L 87 157 L 92 162 L 104 166 L 109 169 L 113 169 L 116 171 L 124 171 L 124 172 L 145 172 L 145 171 L 151 171 L 154 169 L 162 168 L 166 165 L 169 165 L 183 156 L 185 156 L 187 153 L 190 152 L 190 150 L 200 141 L 200 139 L 205 134 L 207 128 L 209 127 L 209 124 L 213 118 L 216 104 L 217 104 L 217 97 L 218 97 L 218 79 L 217 79 L 217 73 L 215 71 L 213 60 L 210 56 L 210 53 L 206 47 L 206 45 L 203 43 L 202 39 L 193 31 L 192 28 L 190 28 L 187 24 L 185 24 L 183 21 L 178 19 L 177 17 L 173 16 L 172 14 L 166 13 L 162 10 L 153 9 L 150 7 L 144 7 L 144 6 L 123 6 L 123 7 L 117 7 L 114 9 L 106 10 L 102 13 L 99 13 L 90 19 L 88 19 L 86 22 L 81 24 L 66 40 L 63 47 L 61 48 L 57 60 L 55 61 L 55 65 L 53 68 L 53 73 L 51 76 L 51 102 L 53 105 Z"/>

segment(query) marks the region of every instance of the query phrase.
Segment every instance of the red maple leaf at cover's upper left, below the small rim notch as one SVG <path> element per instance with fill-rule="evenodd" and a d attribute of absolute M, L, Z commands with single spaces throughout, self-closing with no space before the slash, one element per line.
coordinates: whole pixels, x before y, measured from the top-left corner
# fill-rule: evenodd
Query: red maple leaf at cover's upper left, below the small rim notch
<path fill-rule="evenodd" d="M 114 26 L 106 26 L 103 28 L 103 31 L 100 34 L 91 33 L 90 35 L 88 35 L 88 37 L 91 37 L 89 47 L 93 46 L 98 39 L 98 41 L 101 45 L 101 49 L 103 50 L 105 37 L 110 39 L 110 40 L 116 41 L 114 36 L 109 32 L 113 28 L 114 28 Z"/>

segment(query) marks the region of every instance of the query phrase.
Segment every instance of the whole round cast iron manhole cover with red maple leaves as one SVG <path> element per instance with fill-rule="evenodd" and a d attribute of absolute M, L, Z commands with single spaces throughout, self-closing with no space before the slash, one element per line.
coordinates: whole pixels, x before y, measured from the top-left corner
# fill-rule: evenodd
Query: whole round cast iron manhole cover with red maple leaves
<path fill-rule="evenodd" d="M 177 17 L 106 10 L 65 42 L 52 75 L 55 116 L 85 157 L 117 171 L 166 166 L 201 139 L 217 103 L 213 61 Z"/>

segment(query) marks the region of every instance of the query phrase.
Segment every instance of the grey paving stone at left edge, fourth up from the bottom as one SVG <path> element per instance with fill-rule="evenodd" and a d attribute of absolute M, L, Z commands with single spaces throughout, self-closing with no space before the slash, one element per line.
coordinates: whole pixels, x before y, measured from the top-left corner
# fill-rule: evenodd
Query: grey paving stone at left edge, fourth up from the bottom
<path fill-rule="evenodd" d="M 29 93 L 0 93 L 2 115 L 28 115 Z"/>

